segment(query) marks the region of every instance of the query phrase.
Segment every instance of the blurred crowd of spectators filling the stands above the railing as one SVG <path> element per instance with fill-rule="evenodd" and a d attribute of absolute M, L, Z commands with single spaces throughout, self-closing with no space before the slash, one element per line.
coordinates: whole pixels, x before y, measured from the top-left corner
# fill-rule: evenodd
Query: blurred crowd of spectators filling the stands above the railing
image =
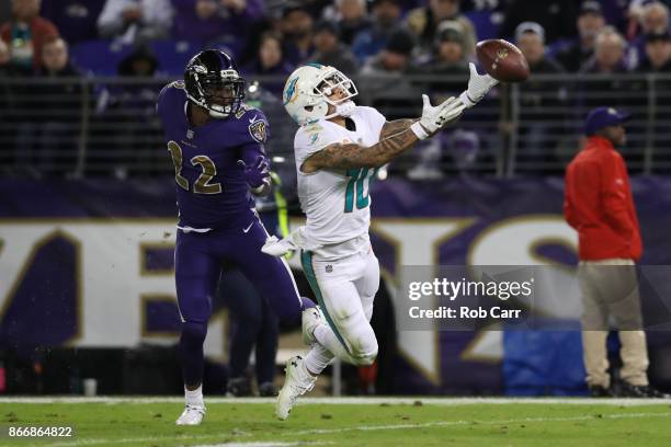
<path fill-rule="evenodd" d="M 361 92 L 384 91 L 384 98 L 372 105 L 385 108 L 388 118 L 397 117 L 395 105 L 407 105 L 407 93 L 418 87 L 408 80 L 413 79 L 409 74 L 433 76 L 421 88 L 434 95 L 463 90 L 468 62 L 475 60 L 476 43 L 485 38 L 514 42 L 530 62 L 532 78 L 520 88 L 524 106 L 521 121 L 524 114 L 534 116 L 539 107 L 547 110 L 566 101 L 567 85 L 549 85 L 554 93 L 548 95 L 548 84 L 534 82 L 534 73 L 671 72 L 671 0 L 3 3 L 8 4 L 0 7 L 0 77 L 179 77 L 191 55 L 204 47 L 216 47 L 235 56 L 248 79 L 258 76 L 283 79 L 307 61 L 334 66 L 362 79 Z M 444 74 L 456 78 L 441 80 Z M 375 80 L 366 83 L 371 77 Z M 280 81 L 263 85 L 275 96 L 282 87 Z M 612 77 L 600 87 L 618 91 L 623 83 Z M 135 89 L 135 93 L 147 99 L 157 94 L 156 89 L 141 85 Z M 114 88 L 106 88 L 96 96 L 93 106 L 96 111 L 133 100 Z M 623 98 L 609 101 L 623 105 Z M 611 105 L 596 102 L 582 105 Z M 546 145 L 543 139 L 553 133 L 548 126 L 546 123 L 523 129 L 525 145 L 543 150 Z M 32 135 L 33 130 L 25 131 Z M 468 135 L 465 144 L 477 137 Z"/>

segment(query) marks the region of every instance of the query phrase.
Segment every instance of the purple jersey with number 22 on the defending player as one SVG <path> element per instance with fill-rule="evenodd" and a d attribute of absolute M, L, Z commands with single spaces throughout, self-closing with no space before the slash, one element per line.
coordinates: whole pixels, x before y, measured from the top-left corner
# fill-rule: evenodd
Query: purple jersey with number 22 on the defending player
<path fill-rule="evenodd" d="M 248 220 L 254 202 L 238 160 L 249 165 L 265 154 L 265 116 L 242 104 L 235 115 L 194 127 L 186 105 L 182 81 L 166 85 L 157 104 L 175 169 L 180 227 L 230 228 Z"/>

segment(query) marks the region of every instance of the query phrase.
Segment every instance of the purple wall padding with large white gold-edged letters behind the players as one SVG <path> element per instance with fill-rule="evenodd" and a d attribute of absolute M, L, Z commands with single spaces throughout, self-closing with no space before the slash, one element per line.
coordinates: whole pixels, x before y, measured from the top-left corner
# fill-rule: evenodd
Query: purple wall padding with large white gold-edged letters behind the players
<path fill-rule="evenodd" d="M 641 263 L 666 265 L 671 179 L 634 177 L 632 185 L 645 247 Z M 376 182 L 372 240 L 385 280 L 393 288 L 402 265 L 435 263 L 559 263 L 570 268 L 577 261 L 577 238 L 562 219 L 562 187 L 560 177 Z M 0 191 L 0 349 L 174 343 L 177 207 L 171 177 L 2 179 Z M 299 270 L 296 257 L 292 266 Z M 209 355 L 220 355 L 225 347 L 220 332 L 220 319 L 214 318 L 206 342 Z M 530 340 L 541 336 L 548 337 L 545 346 L 554 347 L 532 355 Z M 670 340 L 656 333 L 649 348 Z M 578 332 L 553 337 L 399 331 L 397 344 L 397 393 L 584 390 Z M 553 374 L 528 376 L 548 365 Z"/>

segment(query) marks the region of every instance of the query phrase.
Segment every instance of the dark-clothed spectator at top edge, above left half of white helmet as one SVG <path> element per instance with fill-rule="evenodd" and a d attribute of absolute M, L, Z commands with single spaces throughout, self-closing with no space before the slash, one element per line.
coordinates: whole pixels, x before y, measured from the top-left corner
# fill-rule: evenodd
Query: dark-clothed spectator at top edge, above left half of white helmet
<path fill-rule="evenodd" d="M 314 20 L 310 11 L 302 3 L 288 3 L 282 12 L 280 28 L 285 38 L 287 60 L 299 66 L 314 53 Z"/>

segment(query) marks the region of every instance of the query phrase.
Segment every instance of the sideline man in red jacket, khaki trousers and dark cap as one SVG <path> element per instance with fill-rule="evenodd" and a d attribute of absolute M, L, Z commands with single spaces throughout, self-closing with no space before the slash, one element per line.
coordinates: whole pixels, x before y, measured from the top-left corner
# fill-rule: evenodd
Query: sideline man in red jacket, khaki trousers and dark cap
<path fill-rule="evenodd" d="M 625 162 L 615 150 L 626 144 L 629 114 L 612 107 L 588 114 L 584 148 L 566 171 L 564 213 L 578 231 L 578 280 L 583 302 L 582 346 L 593 397 L 661 397 L 648 385 L 635 262 L 642 244 Z M 611 385 L 606 336 L 618 330 L 623 367 Z"/>

